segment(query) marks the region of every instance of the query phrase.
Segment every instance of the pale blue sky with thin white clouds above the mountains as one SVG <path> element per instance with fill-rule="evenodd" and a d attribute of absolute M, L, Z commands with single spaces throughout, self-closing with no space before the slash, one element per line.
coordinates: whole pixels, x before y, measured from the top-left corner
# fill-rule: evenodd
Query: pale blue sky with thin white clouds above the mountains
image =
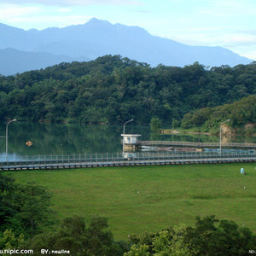
<path fill-rule="evenodd" d="M 255 0 L 0 0 L 0 23 L 25 30 L 84 24 L 94 17 L 256 60 Z"/>

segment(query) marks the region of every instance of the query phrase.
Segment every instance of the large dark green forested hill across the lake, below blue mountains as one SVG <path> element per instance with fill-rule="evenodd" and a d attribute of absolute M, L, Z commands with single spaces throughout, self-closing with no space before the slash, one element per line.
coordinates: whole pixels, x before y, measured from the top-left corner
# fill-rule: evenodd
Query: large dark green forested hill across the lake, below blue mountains
<path fill-rule="evenodd" d="M 191 110 L 256 94 L 256 62 L 212 67 L 149 67 L 119 55 L 61 63 L 0 77 L 0 119 L 165 123 Z"/>

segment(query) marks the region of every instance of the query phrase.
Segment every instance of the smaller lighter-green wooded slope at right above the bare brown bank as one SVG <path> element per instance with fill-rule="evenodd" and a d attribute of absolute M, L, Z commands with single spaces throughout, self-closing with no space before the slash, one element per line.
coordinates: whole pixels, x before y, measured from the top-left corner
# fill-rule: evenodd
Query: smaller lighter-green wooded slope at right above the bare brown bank
<path fill-rule="evenodd" d="M 230 119 L 229 125 L 243 128 L 247 124 L 256 124 L 256 95 L 247 96 L 241 101 L 215 108 L 201 108 L 194 113 L 184 115 L 181 127 L 188 129 L 200 127 L 201 131 L 219 130 L 219 124 Z M 252 125 L 253 126 L 253 125 Z"/>

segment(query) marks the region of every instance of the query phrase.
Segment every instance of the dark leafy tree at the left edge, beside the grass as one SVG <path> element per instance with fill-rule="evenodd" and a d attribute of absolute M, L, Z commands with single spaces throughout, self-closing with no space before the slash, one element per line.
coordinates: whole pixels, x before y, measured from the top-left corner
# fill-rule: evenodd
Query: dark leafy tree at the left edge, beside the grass
<path fill-rule="evenodd" d="M 17 184 L 13 178 L 0 174 L 0 232 L 3 237 L 32 237 L 51 224 L 50 198 L 49 191 L 35 183 Z"/>

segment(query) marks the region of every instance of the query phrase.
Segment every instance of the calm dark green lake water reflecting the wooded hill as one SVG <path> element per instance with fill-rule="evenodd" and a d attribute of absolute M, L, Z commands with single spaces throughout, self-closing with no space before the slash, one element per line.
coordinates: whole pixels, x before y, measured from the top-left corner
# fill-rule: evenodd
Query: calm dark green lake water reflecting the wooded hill
<path fill-rule="evenodd" d="M 6 123 L 0 123 L 0 156 L 5 156 Z M 44 154 L 120 153 L 123 125 L 48 124 L 13 122 L 9 124 L 9 156 Z M 125 133 L 141 134 L 141 140 L 218 142 L 218 136 L 160 135 L 149 125 L 125 126 Z M 26 146 L 27 141 L 31 147 Z M 256 143 L 256 137 L 233 137 L 230 142 Z"/>

